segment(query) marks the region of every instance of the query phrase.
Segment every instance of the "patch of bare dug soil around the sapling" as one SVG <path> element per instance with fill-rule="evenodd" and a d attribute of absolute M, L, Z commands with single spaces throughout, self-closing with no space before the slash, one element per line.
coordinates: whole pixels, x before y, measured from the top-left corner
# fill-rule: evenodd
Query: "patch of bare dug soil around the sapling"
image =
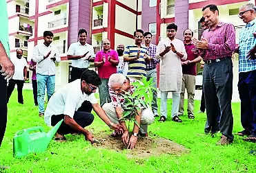
<path fill-rule="evenodd" d="M 94 134 L 97 143 L 93 143 L 96 148 L 106 148 L 116 150 L 117 152 L 124 152 L 126 150 L 124 144 L 121 142 L 121 137 L 111 137 L 106 132 Z M 128 158 L 146 158 L 151 156 L 159 156 L 161 154 L 175 154 L 180 155 L 188 152 L 184 148 L 173 141 L 161 137 L 138 137 L 136 148 L 126 150 Z"/>

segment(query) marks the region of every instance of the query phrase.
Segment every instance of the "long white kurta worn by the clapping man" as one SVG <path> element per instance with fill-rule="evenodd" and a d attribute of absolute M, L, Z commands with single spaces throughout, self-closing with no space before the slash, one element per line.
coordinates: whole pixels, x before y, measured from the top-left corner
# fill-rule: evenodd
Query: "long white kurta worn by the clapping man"
<path fill-rule="evenodd" d="M 182 83 L 182 67 L 181 58 L 170 50 L 167 54 L 161 57 L 159 54 L 164 51 L 165 47 L 173 43 L 175 49 L 181 54 L 183 60 L 186 60 L 187 54 L 183 41 L 175 38 L 170 41 L 170 38 L 165 38 L 157 45 L 157 58 L 161 59 L 160 73 L 159 73 L 159 90 L 181 92 Z"/>

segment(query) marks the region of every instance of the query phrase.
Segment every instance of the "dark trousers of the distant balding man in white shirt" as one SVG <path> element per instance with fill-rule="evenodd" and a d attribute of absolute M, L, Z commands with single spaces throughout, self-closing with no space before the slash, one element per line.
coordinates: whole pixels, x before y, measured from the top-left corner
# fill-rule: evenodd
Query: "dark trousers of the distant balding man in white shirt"
<path fill-rule="evenodd" d="M 14 90 L 15 84 L 17 84 L 18 102 L 23 104 L 22 89 L 24 85 L 24 80 L 9 80 L 7 87 L 7 102 L 9 102 L 10 95 L 12 95 L 12 91 Z"/>

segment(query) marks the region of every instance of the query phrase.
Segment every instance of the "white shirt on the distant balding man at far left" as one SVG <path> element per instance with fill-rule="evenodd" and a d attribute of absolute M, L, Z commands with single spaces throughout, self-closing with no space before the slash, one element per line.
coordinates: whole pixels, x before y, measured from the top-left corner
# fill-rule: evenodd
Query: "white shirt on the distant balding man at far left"
<path fill-rule="evenodd" d="M 20 59 L 15 57 L 15 58 L 10 58 L 12 61 L 12 64 L 14 65 L 14 75 L 12 76 L 13 80 L 24 80 L 24 67 L 27 67 L 28 62 L 26 61 L 25 58 L 21 57 Z"/>

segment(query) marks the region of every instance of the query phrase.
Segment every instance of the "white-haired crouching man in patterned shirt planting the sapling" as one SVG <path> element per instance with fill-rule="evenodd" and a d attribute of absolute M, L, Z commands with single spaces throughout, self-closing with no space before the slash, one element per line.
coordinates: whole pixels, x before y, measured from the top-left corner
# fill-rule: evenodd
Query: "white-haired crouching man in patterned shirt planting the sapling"
<path fill-rule="evenodd" d="M 155 120 L 154 114 L 150 108 L 138 111 L 138 114 L 135 116 L 135 120 L 137 121 L 137 124 L 139 124 L 140 128 L 135 123 L 132 135 L 129 137 L 126 122 L 123 120 L 120 121 L 119 119 L 121 119 L 124 114 L 124 110 L 122 108 L 125 101 L 124 94 L 132 94 L 135 91 L 135 88 L 131 85 L 132 82 L 135 82 L 135 80 L 125 77 L 121 73 L 112 74 L 108 81 L 109 93 L 112 102 L 106 103 L 102 107 L 112 123 L 119 122 L 119 124 L 123 126 L 124 133 L 121 136 L 121 140 L 128 149 L 135 148 L 138 135 L 141 135 L 141 137 L 146 137 L 148 135 L 148 124 L 152 124 Z M 117 134 L 117 132 L 112 133 L 112 136 L 114 137 L 117 137 L 118 135 L 119 134 Z"/>

